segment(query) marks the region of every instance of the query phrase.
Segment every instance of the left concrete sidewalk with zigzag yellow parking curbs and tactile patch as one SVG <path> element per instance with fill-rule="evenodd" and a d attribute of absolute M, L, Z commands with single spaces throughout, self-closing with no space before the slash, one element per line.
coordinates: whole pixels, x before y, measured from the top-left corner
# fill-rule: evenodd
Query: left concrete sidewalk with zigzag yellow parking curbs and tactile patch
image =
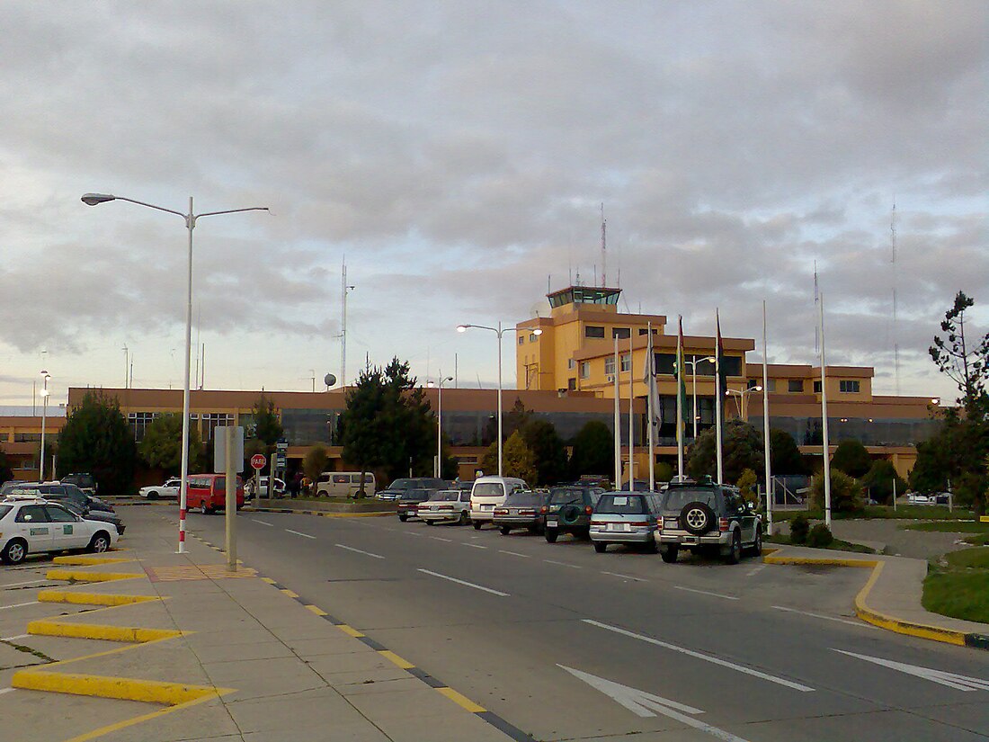
<path fill-rule="evenodd" d="M 0 695 L 0 713 L 19 720 L 20 736 L 526 739 L 249 565 L 229 573 L 216 547 L 193 538 L 176 554 L 164 515 L 131 510 L 123 550 L 101 555 L 126 561 L 56 560 L 63 563 L 47 571 L 39 603 L 3 616 L 5 636 L 59 660 L 0 673 L 0 685 L 14 689 Z"/>

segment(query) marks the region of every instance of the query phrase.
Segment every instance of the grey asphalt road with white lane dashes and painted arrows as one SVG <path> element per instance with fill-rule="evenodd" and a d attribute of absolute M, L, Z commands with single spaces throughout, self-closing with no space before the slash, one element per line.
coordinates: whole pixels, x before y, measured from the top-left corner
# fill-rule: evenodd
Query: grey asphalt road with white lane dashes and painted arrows
<path fill-rule="evenodd" d="M 223 516 L 188 524 L 224 542 Z M 539 740 L 989 739 L 989 653 L 858 621 L 864 570 L 391 517 L 237 527 L 245 563 Z"/>

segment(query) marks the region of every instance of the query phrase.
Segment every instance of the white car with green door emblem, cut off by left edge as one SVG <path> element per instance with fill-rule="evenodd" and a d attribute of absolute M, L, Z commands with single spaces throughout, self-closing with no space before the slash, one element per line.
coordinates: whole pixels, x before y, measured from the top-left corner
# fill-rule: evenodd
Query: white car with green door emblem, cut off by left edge
<path fill-rule="evenodd" d="M 104 552 L 117 542 L 111 523 L 85 520 L 56 503 L 8 499 L 0 503 L 0 560 L 20 564 L 28 554 L 66 549 Z"/>

